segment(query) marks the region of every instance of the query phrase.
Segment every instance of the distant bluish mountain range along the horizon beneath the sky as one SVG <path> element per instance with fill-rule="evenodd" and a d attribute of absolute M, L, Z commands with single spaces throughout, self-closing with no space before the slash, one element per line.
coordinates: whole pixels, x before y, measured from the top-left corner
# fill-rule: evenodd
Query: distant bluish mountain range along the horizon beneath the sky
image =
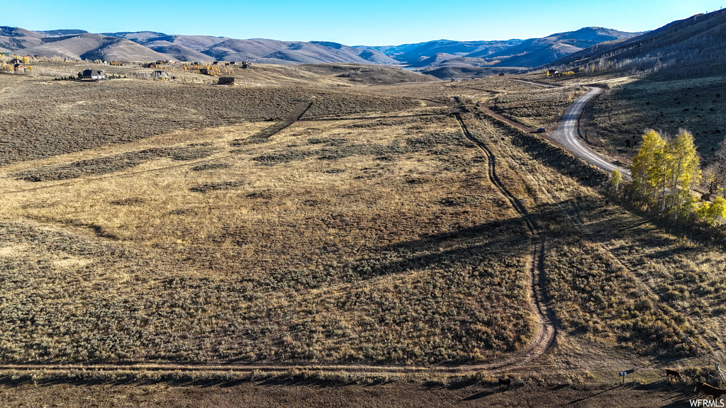
<path fill-rule="evenodd" d="M 346 46 L 330 41 L 277 41 L 182 36 L 155 31 L 88 33 L 83 30 L 31 31 L 0 27 L 0 52 L 69 60 L 208 61 L 258 63 L 359 63 L 410 68 L 518 67 L 545 65 L 605 41 L 637 36 L 588 27 L 544 38 L 505 41 L 436 40 L 398 46 Z"/>

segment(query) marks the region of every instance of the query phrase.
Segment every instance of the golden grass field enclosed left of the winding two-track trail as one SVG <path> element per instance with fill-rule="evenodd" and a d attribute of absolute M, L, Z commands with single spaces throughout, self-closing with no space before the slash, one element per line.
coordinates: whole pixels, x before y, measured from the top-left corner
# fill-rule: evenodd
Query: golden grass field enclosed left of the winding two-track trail
<path fill-rule="evenodd" d="M 38 258 L 56 277 L 7 287 L 4 359 L 428 364 L 518 350 L 533 330 L 526 236 L 440 112 L 298 122 L 261 144 L 234 142 L 257 125 L 176 132 L 7 166 L 200 142 L 217 149 L 203 160 L 231 165 L 152 171 L 179 164 L 152 158 L 68 184 L 4 179 L 7 229 L 34 231 L 20 239 L 33 255 L 9 262 L 35 274 Z M 62 246 L 70 237 L 81 243 Z M 52 325 L 25 326 L 50 311 Z"/>

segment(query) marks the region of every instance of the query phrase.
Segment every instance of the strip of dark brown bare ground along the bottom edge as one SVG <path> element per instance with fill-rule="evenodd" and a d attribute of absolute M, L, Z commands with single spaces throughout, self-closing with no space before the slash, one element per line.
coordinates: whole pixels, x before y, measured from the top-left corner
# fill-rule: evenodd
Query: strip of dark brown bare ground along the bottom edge
<path fill-rule="evenodd" d="M 329 383 L 319 380 L 203 379 L 146 383 L 119 380 L 68 385 L 12 380 L 0 386 L 8 407 L 690 407 L 693 387 L 682 384 L 588 386 L 567 383 L 512 385 L 441 383 Z"/>

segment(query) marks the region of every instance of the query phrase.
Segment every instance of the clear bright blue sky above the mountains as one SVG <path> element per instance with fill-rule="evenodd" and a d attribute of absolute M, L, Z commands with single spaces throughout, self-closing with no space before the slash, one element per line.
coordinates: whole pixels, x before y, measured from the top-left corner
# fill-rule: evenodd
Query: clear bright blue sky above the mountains
<path fill-rule="evenodd" d="M 86 7 L 86 5 L 88 7 Z M 726 0 L 613 1 L 4 1 L 0 25 L 397 45 L 436 40 L 543 37 L 597 25 L 653 30 L 712 12 Z"/>

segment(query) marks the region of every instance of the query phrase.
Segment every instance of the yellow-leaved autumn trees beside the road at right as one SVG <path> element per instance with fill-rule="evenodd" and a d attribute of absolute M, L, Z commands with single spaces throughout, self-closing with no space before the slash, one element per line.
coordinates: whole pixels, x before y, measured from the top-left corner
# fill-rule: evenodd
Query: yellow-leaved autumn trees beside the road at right
<path fill-rule="evenodd" d="M 711 165 L 701 169 L 693 135 L 681 129 L 674 137 L 652 129 L 643 134 L 640 150 L 630 166 L 630 197 L 646 210 L 673 221 L 700 219 L 713 227 L 726 222 L 726 140 Z M 693 187 L 705 181 L 701 201 Z M 622 175 L 613 171 L 612 187 L 618 191 Z"/>

